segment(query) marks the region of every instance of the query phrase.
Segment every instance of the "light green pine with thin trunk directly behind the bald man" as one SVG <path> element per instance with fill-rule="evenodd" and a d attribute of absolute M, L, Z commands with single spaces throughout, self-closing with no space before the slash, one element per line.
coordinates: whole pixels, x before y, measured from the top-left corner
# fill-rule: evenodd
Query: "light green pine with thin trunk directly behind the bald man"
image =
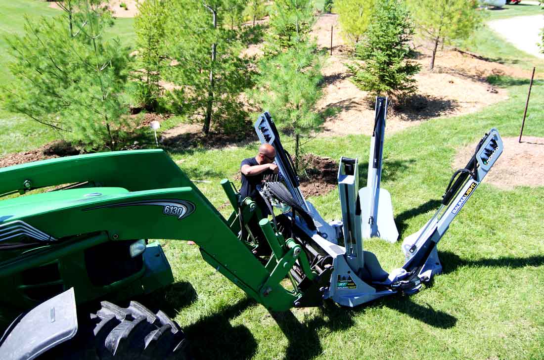
<path fill-rule="evenodd" d="M 299 170 L 301 139 L 319 131 L 322 120 L 314 111 L 321 96 L 321 61 L 310 38 L 313 3 L 277 0 L 270 20 L 268 55 L 259 64 L 254 99 L 271 111 L 278 128 L 295 138 L 295 168 Z"/>

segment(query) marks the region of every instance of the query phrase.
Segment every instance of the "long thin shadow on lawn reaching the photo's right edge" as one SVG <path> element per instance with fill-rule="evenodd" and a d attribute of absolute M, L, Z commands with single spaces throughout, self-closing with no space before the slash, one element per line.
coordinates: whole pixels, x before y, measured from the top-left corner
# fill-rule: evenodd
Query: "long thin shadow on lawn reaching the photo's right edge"
<path fill-rule="evenodd" d="M 533 255 L 529 257 L 500 257 L 496 259 L 465 260 L 449 251 L 438 251 L 438 257 L 442 261 L 442 273 L 449 274 L 461 266 L 479 267 L 493 266 L 497 268 L 508 267 L 509 269 L 523 268 L 524 266 L 543 266 L 544 255 Z"/>

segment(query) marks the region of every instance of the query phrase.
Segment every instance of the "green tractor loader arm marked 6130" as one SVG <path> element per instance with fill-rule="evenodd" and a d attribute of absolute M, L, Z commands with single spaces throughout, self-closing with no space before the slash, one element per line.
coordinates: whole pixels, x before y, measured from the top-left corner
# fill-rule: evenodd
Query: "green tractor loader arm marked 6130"
<path fill-rule="evenodd" d="M 8 281 L 38 263 L 67 256 L 78 244 L 193 240 L 206 262 L 265 307 L 285 311 L 302 296 L 296 285 L 286 290 L 280 284 L 293 263 L 302 261 L 300 246 L 276 236 L 279 232 L 264 224 L 265 233 L 273 235 L 261 241 L 272 242 L 271 249 L 276 252 L 268 264 L 262 264 L 238 237 L 249 221 L 258 226 L 261 215 L 256 204 L 250 199 L 241 201 L 232 219 L 226 220 L 162 150 L 91 154 L 11 166 L 0 170 L 0 179 L 2 194 L 75 183 L 0 202 L 0 246 L 35 247 L 9 261 L 0 258 L 0 280 Z M 227 196 L 233 206 L 238 203 L 234 190 L 228 190 Z M 312 276 L 310 271 L 307 275 Z M 77 284 L 70 281 L 63 286 L 75 286 L 78 292 Z"/>

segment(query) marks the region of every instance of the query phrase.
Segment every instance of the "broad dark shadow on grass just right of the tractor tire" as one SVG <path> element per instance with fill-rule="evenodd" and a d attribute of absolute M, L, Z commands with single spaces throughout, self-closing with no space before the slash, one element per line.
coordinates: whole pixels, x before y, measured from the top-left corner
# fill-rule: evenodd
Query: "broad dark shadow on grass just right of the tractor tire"
<path fill-rule="evenodd" d="M 239 360 L 254 357 L 257 351 L 255 337 L 243 325 L 232 326 L 230 320 L 255 304 L 254 300 L 245 297 L 184 327 L 193 358 Z"/>

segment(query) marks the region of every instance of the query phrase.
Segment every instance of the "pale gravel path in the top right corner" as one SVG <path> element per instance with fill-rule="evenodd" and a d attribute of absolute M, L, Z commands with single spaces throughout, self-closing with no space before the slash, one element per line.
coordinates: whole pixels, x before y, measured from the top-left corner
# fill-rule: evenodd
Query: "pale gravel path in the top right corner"
<path fill-rule="evenodd" d="M 487 23 L 491 29 L 499 33 L 506 40 L 514 44 L 518 49 L 544 59 L 537 45 L 540 39 L 540 31 L 544 27 L 544 16 L 516 16 Z"/>

